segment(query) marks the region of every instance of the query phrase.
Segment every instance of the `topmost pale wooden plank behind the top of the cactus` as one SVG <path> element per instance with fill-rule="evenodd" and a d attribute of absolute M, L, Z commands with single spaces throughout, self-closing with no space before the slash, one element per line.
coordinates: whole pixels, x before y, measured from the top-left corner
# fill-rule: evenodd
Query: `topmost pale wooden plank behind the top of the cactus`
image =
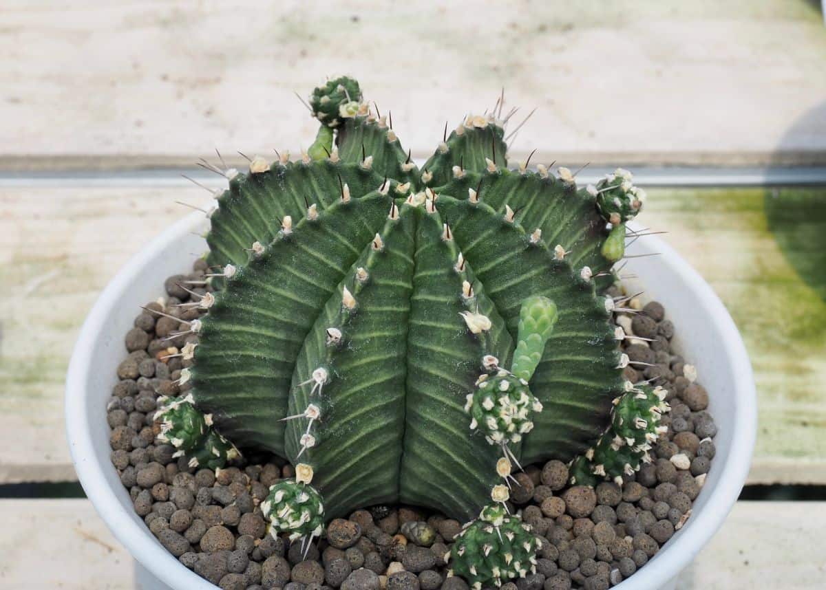
<path fill-rule="evenodd" d="M 814 2 L 3 3 L 0 168 L 311 142 L 292 95 L 361 78 L 415 156 L 501 87 L 535 162 L 826 161 Z M 516 117 L 517 120 L 520 116 Z"/>

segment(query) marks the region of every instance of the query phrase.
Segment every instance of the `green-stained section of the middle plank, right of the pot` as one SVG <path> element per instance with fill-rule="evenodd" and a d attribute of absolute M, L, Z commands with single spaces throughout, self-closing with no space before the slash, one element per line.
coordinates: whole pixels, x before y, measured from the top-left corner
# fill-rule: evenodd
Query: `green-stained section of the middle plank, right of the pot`
<path fill-rule="evenodd" d="M 748 348 L 759 422 L 749 482 L 823 484 L 826 267 L 809 263 L 826 249 L 826 188 L 650 194 L 639 222 L 668 232 L 661 237 L 714 287 Z M 800 240 L 778 241 L 770 229 L 778 206 Z"/>

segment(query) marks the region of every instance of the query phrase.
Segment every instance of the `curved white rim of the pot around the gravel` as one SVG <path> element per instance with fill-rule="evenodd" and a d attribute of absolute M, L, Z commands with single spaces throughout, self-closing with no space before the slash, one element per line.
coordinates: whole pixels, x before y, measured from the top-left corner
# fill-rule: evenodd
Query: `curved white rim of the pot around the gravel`
<path fill-rule="evenodd" d="M 129 262 L 109 282 L 90 310 L 80 329 L 74 346 L 69 371 L 66 375 L 65 413 L 66 432 L 74 469 L 83 490 L 92 501 L 98 514 L 106 522 L 112 534 L 116 536 L 131 555 L 145 569 L 172 588 L 197 588 L 210 590 L 216 588 L 206 579 L 187 569 L 173 557 L 149 529 L 135 520 L 117 498 L 116 492 L 107 484 L 104 470 L 112 470 L 112 465 L 101 463 L 96 458 L 95 446 L 91 435 L 92 427 L 88 421 L 86 407 L 90 395 L 86 389 L 87 376 L 93 371 L 93 350 L 91 342 L 102 330 L 106 329 L 107 317 L 118 307 L 121 293 L 129 290 L 135 274 L 165 248 L 181 236 L 204 224 L 203 215 L 192 213 L 180 219 L 154 238 L 145 248 L 136 253 Z M 634 224 L 630 224 L 634 228 Z M 638 228 L 635 228 L 638 229 Z M 732 448 L 723 465 L 715 465 L 722 470 L 712 493 L 705 501 L 702 510 L 691 515 L 691 526 L 680 531 L 679 536 L 669 541 L 668 545 L 657 552 L 645 567 L 624 580 L 615 588 L 657 588 L 674 578 L 681 569 L 690 564 L 695 555 L 719 529 L 737 501 L 743 483 L 748 476 L 752 451 L 757 436 L 757 394 L 752 375 L 752 366 L 748 353 L 737 327 L 729 312 L 725 309 L 714 290 L 705 282 L 673 248 L 657 236 L 648 237 L 645 248 L 660 253 L 659 259 L 669 267 L 676 269 L 687 284 L 693 287 L 696 303 L 707 310 L 710 321 L 724 333 L 724 348 L 731 361 L 731 368 L 738 380 L 733 389 L 735 405 L 738 408 L 733 421 Z M 165 277 L 160 277 L 163 280 Z"/>

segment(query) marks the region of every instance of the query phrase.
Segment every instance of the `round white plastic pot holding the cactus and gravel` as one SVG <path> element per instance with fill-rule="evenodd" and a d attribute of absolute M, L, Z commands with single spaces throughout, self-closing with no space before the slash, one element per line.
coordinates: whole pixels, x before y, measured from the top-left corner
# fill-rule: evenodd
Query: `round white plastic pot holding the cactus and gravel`
<path fill-rule="evenodd" d="M 131 259 L 109 283 L 83 323 L 66 377 L 66 431 L 80 483 L 107 526 L 135 557 L 142 588 L 214 590 L 216 587 L 178 562 L 135 514 L 129 492 L 109 460 L 107 399 L 116 383 L 115 367 L 126 356 L 123 337 L 140 304 L 163 293 L 167 276 L 188 271 L 192 253 L 205 250 L 207 222 L 193 214 L 174 224 Z M 619 584 L 631 588 L 672 588 L 723 523 L 746 480 L 757 432 L 757 399 L 743 341 L 737 328 L 703 281 L 672 248 L 655 236 L 639 239 L 629 259 L 646 298 L 665 305 L 676 325 L 676 347 L 694 364 L 710 394 L 718 426 L 717 454 L 705 486 L 681 531 L 634 576 Z"/>

